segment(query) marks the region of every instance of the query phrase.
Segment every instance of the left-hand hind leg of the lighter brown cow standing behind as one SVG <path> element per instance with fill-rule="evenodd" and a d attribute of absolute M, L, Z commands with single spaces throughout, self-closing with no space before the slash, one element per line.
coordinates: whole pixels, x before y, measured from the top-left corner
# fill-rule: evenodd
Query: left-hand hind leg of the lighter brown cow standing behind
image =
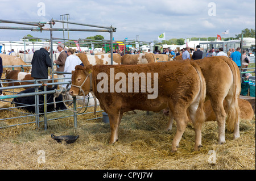
<path fill-rule="evenodd" d="M 216 114 L 216 121 L 218 123 L 218 144 L 224 144 L 225 141 L 225 120 L 226 112 L 223 107 L 224 99 L 211 99 L 210 103 L 214 113 Z"/>

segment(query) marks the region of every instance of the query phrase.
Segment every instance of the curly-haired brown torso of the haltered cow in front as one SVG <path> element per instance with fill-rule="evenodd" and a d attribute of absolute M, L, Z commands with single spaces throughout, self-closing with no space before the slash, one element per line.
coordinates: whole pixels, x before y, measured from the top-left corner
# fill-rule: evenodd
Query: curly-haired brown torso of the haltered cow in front
<path fill-rule="evenodd" d="M 128 81 L 126 81 L 126 92 L 114 92 L 113 94 L 109 94 L 109 92 L 98 93 L 96 91 L 102 108 L 105 106 L 109 107 L 112 104 L 129 103 L 129 105 L 124 106 L 129 111 L 134 109 L 160 111 L 167 106 L 167 99 L 170 98 L 172 99 L 171 102 L 174 104 L 175 102 L 184 102 L 184 106 L 186 106 L 187 103 L 192 102 L 195 91 L 198 90 L 200 86 L 198 74 L 195 68 L 191 66 L 190 62 L 170 61 L 141 65 L 96 65 L 93 66 L 94 77 L 97 77 L 100 73 L 106 73 L 108 77 L 110 77 L 110 68 L 114 68 L 115 73 L 124 73 L 126 79 L 128 79 L 129 73 L 144 73 L 146 76 L 147 73 L 150 73 L 150 85 L 152 87 L 158 86 L 158 96 L 156 99 L 148 99 L 150 93 L 141 92 L 142 83 L 139 83 L 139 92 L 128 92 L 127 89 L 129 85 Z M 154 85 L 153 78 L 155 75 L 153 73 L 158 73 L 158 85 Z M 95 81 L 97 85 L 101 79 L 95 79 Z M 115 86 L 115 84 L 119 82 L 119 79 L 115 79 L 114 81 Z M 134 86 L 134 80 L 132 85 Z"/>

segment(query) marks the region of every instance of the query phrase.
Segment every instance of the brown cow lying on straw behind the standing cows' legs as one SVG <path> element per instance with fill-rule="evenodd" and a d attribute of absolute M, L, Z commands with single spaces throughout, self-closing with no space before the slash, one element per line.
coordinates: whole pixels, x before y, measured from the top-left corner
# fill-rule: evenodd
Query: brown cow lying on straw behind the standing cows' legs
<path fill-rule="evenodd" d="M 245 100 L 245 99 L 238 99 L 238 105 L 241 111 L 240 114 L 240 119 L 244 119 L 244 120 L 252 120 L 253 116 L 254 116 L 254 112 L 253 112 L 253 108 L 251 107 L 251 104 Z M 224 108 L 225 108 L 225 112 L 228 112 L 228 104 L 226 103 L 226 101 L 224 100 Z M 205 112 L 205 121 L 216 121 L 216 115 L 213 112 L 212 106 L 210 105 L 210 100 L 207 100 L 204 103 L 204 112 Z M 169 115 L 169 110 L 168 109 L 164 109 L 163 110 L 164 115 L 168 116 Z M 188 111 L 187 111 L 188 113 Z M 188 118 L 189 121 L 191 121 L 191 118 L 189 116 L 188 113 Z M 167 126 L 167 131 L 172 129 L 172 124 L 169 124 Z"/>

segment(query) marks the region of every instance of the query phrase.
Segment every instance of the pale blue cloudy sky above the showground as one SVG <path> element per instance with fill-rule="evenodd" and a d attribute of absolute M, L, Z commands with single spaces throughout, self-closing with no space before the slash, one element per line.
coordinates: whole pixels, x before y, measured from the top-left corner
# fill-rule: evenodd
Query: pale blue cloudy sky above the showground
<path fill-rule="evenodd" d="M 72 22 L 113 26 L 114 40 L 138 38 L 141 41 L 158 40 L 166 32 L 166 39 L 209 37 L 221 35 L 229 30 L 229 36 L 241 33 L 245 28 L 255 29 L 255 1 L 7 1 L 0 0 L 0 19 L 23 22 L 46 22 L 60 19 L 61 14 L 69 14 Z M 45 6 L 45 15 L 38 14 Z M 40 11 L 43 12 L 43 11 Z M 0 24 L 0 26 L 23 26 Z M 56 23 L 54 27 L 62 27 Z M 24 26 L 28 27 L 28 26 Z M 67 25 L 65 25 L 67 28 Z M 69 28 L 86 28 L 72 26 Z M 1 30 L 0 41 L 18 41 L 24 35 L 49 38 L 49 32 L 31 32 L 24 30 Z M 108 32 L 69 32 L 70 39 L 84 39 L 88 36 L 102 35 L 110 39 Z M 53 32 L 53 37 L 63 37 L 63 32 Z M 65 38 L 68 33 L 65 32 Z"/>

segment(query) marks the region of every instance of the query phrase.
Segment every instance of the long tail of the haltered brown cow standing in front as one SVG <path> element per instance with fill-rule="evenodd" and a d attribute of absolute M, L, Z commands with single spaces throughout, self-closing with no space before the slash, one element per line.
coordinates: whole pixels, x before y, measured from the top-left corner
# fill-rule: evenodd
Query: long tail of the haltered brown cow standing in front
<path fill-rule="evenodd" d="M 191 61 L 191 65 L 196 69 L 197 74 L 199 75 L 200 78 L 200 100 L 199 100 L 199 106 L 196 110 L 196 124 L 195 126 L 197 128 L 202 127 L 206 116 L 205 116 L 205 111 L 204 111 L 204 101 L 205 101 L 205 96 L 206 96 L 206 82 L 205 82 L 205 78 L 204 75 L 199 67 L 199 65 L 197 65 L 195 62 Z"/>

